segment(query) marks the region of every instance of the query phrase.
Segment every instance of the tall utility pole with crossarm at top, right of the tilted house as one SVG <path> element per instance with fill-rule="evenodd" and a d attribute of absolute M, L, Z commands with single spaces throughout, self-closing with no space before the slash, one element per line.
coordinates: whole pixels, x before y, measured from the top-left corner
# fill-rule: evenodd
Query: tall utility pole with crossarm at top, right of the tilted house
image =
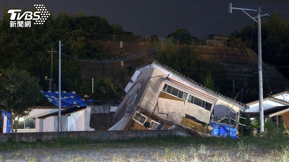
<path fill-rule="evenodd" d="M 264 110 L 263 110 L 263 78 L 262 78 L 262 48 L 261 48 L 261 17 L 268 16 L 268 14 L 260 15 L 261 8 L 258 7 L 258 10 L 252 10 L 247 8 L 235 8 L 232 7 L 232 3 L 229 3 L 229 13 L 232 13 L 232 9 L 241 10 L 255 22 L 258 23 L 258 74 L 259 74 L 259 113 L 260 113 L 260 133 L 264 132 Z M 257 17 L 252 17 L 245 11 L 254 11 L 257 12 Z M 255 19 L 257 18 L 257 20 Z"/>

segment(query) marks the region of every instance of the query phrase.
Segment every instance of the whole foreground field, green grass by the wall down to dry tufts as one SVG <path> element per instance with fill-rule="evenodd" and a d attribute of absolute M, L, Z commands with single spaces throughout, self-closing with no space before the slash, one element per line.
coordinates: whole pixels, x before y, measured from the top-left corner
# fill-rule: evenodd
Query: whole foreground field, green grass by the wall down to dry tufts
<path fill-rule="evenodd" d="M 129 140 L 57 139 L 50 142 L 2 142 L 6 161 L 289 161 L 287 137 L 239 140 L 162 136 Z"/>

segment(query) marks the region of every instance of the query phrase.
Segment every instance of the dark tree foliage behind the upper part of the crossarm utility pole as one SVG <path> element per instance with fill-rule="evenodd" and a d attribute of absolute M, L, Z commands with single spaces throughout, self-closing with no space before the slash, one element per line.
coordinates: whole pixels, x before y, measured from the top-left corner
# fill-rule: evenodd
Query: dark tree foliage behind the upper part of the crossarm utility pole
<path fill-rule="evenodd" d="M 262 18 L 262 60 L 275 66 L 288 66 L 289 59 L 289 24 L 285 17 L 273 13 Z M 253 31 L 253 34 L 252 34 Z M 252 45 L 251 45 L 252 39 Z M 230 36 L 230 47 L 251 48 L 258 53 L 257 23 L 243 26 L 240 31 L 234 30 Z M 288 68 L 278 68 L 288 78 Z"/>

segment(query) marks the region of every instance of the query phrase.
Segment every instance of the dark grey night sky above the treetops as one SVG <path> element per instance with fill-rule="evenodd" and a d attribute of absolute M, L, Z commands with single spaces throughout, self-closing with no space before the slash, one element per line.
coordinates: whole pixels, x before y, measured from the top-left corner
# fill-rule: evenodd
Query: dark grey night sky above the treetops
<path fill-rule="evenodd" d="M 251 18 L 240 11 L 233 11 L 229 14 L 227 4 L 231 2 L 233 7 L 245 7 L 248 5 L 250 9 L 257 9 L 249 5 L 260 6 L 278 6 L 289 5 L 288 0 L 242 0 L 242 1 L 227 1 L 227 0 L 202 0 L 202 1 L 136 1 L 136 0 L 109 0 L 109 1 L 28 1 L 28 0 L 1 0 L 0 6 L 6 5 L 12 7 L 16 5 L 17 9 L 26 7 L 32 10 L 34 4 L 44 4 L 49 12 L 54 15 L 58 11 L 63 10 L 71 15 L 83 12 L 85 15 L 96 15 L 105 17 L 110 24 L 121 24 L 125 31 L 133 32 L 135 35 L 147 36 L 153 33 L 159 37 L 166 37 L 169 33 L 177 28 L 192 29 L 194 25 L 202 20 L 207 20 L 208 16 L 216 13 L 216 11 L 226 7 L 225 13 L 221 18 L 212 22 L 192 34 L 199 39 L 204 39 L 209 34 L 229 36 L 233 29 L 240 29 L 242 25 L 252 24 Z M 262 14 L 273 12 L 275 7 L 266 7 L 261 10 Z M 276 9 L 286 12 L 280 13 L 289 19 L 289 7 L 277 7 Z M 257 14 L 251 14 L 253 17 Z M 3 10 L 1 8 L 0 18 L 2 19 Z M 194 31 L 194 30 L 192 30 Z"/>

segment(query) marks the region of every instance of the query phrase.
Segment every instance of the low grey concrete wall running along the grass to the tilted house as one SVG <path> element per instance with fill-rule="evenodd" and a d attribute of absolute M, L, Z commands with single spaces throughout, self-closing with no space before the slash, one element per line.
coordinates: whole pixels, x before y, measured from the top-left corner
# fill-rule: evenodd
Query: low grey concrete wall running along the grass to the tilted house
<path fill-rule="evenodd" d="M 11 138 L 15 142 L 35 142 L 38 139 L 49 141 L 56 138 L 85 138 L 89 140 L 124 140 L 134 137 L 157 137 L 159 135 L 188 134 L 177 130 L 137 130 L 137 131 L 67 131 L 67 132 L 29 132 L 29 133 L 0 133 L 0 141 Z"/>

